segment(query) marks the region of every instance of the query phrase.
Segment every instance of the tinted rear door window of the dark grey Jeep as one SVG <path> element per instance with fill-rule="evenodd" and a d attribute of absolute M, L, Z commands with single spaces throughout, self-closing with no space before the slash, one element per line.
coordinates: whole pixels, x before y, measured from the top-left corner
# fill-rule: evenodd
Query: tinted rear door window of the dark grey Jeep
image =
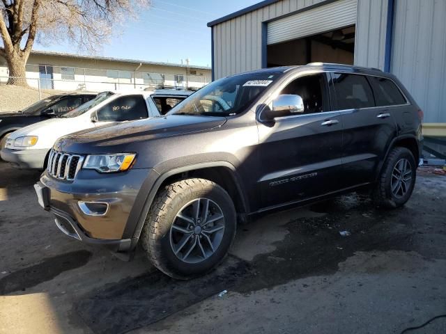
<path fill-rule="evenodd" d="M 371 87 L 363 75 L 333 73 L 332 79 L 339 110 L 375 106 Z"/>

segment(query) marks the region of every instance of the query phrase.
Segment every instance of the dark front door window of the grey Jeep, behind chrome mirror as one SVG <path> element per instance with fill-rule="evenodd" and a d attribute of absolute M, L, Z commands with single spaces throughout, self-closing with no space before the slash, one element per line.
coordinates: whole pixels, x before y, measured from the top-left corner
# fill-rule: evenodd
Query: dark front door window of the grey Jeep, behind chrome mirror
<path fill-rule="evenodd" d="M 325 74 L 312 74 L 299 77 L 286 86 L 281 94 L 299 95 L 304 102 L 303 113 L 328 111 L 327 79 Z"/>

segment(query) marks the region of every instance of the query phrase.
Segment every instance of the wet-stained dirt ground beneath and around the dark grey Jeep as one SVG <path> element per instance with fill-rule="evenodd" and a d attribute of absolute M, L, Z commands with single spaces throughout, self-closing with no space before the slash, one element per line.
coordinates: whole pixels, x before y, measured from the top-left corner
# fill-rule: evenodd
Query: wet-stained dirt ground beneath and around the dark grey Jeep
<path fill-rule="evenodd" d="M 351 194 L 260 217 L 187 282 L 66 237 L 38 177 L 0 162 L 0 333 L 446 333 L 445 176 L 393 211 Z"/>

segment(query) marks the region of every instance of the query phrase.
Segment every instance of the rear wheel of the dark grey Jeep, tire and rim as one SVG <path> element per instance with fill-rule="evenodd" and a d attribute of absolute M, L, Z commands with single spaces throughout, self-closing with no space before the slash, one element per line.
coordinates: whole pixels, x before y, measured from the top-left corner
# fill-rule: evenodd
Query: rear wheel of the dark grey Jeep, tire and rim
<path fill-rule="evenodd" d="M 404 205 L 412 195 L 417 177 L 416 169 L 417 164 L 410 150 L 393 148 L 385 160 L 378 184 L 373 192 L 375 204 L 387 209 Z M 400 175 L 401 179 L 399 179 Z"/>

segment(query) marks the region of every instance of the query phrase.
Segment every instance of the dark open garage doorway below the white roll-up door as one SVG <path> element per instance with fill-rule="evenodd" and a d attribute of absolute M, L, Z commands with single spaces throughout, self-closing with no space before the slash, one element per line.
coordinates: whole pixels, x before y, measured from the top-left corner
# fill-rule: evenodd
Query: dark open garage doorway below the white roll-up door
<path fill-rule="evenodd" d="M 327 33 L 268 45 L 267 65 L 275 67 L 314 62 L 353 65 L 354 50 L 355 26 L 347 26 Z"/>

